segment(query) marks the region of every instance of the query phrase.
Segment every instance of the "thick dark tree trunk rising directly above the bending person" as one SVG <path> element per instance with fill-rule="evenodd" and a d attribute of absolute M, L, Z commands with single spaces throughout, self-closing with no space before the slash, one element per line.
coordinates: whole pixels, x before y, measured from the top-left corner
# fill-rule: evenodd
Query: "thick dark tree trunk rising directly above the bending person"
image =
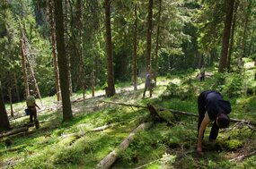
<path fill-rule="evenodd" d="M 225 0 L 225 28 L 222 39 L 222 49 L 221 56 L 219 60 L 218 72 L 225 72 L 226 61 L 227 61 L 227 52 L 230 39 L 231 23 L 233 18 L 234 11 L 234 0 Z"/>

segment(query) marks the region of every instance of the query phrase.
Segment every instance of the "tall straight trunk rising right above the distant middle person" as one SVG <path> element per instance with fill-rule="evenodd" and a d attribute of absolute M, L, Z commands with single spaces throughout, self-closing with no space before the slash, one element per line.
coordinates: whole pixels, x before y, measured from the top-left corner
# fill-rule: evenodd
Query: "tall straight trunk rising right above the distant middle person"
<path fill-rule="evenodd" d="M 156 41 L 155 41 L 155 58 L 154 58 L 154 85 L 156 87 L 156 77 L 158 72 L 158 50 L 159 50 L 159 36 L 160 36 L 160 22 L 162 14 L 162 0 L 159 0 L 159 11 L 158 11 L 158 21 L 156 30 Z"/>

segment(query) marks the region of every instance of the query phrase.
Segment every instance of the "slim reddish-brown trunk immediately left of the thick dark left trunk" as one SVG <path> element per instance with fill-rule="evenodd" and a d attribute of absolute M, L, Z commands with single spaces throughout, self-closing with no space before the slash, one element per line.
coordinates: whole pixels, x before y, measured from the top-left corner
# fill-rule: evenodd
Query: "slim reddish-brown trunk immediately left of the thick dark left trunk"
<path fill-rule="evenodd" d="M 53 15 L 53 2 L 49 0 L 49 25 L 50 25 L 50 35 L 51 35 L 51 53 L 53 57 L 53 68 L 55 77 L 55 89 L 57 94 L 57 101 L 61 100 L 60 87 L 59 87 L 59 76 L 57 68 L 57 51 L 56 51 L 56 37 L 55 37 L 55 25 L 54 25 L 54 15 Z"/>

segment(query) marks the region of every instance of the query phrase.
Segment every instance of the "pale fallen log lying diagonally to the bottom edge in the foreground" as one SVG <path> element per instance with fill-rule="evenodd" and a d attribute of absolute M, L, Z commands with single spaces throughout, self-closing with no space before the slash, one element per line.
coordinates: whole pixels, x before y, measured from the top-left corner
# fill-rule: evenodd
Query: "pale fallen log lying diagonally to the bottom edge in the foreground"
<path fill-rule="evenodd" d="M 126 139 L 124 139 L 120 144 L 118 148 L 115 148 L 108 156 L 105 156 L 102 161 L 97 165 L 96 168 L 110 168 L 111 165 L 117 160 L 119 152 L 125 150 L 128 148 L 128 145 L 131 143 L 131 141 L 134 139 L 135 134 L 138 131 L 144 131 L 153 123 L 142 123 L 140 124 L 134 131 L 132 131 Z"/>

